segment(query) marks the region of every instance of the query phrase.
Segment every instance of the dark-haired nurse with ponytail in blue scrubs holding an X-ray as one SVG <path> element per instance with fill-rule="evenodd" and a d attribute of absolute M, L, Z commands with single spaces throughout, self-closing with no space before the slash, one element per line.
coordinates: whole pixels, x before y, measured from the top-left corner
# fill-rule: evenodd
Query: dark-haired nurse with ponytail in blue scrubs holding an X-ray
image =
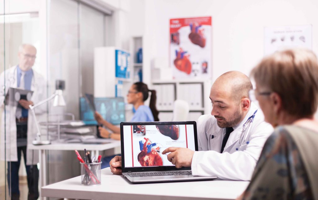
<path fill-rule="evenodd" d="M 150 95 L 149 106 L 145 105 L 144 102 Z M 134 106 L 134 116 L 130 122 L 158 122 L 158 110 L 156 109 L 156 90 L 149 90 L 148 86 L 145 83 L 137 82 L 134 83 L 128 90 L 127 102 L 133 104 Z M 98 112 L 95 112 L 95 119 L 99 124 L 103 124 L 104 127 L 107 127 L 112 132 L 99 127 L 100 136 L 105 138 L 112 138 L 120 140 L 120 127 L 113 125 L 112 123 L 107 122 Z M 101 168 L 109 167 L 109 161 L 113 158 L 105 157 L 102 159 Z"/>

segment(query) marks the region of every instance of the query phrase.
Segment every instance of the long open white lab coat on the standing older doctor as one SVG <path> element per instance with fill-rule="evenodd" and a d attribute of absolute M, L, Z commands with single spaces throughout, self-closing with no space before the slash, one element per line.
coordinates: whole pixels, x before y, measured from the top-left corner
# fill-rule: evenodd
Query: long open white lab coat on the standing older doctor
<path fill-rule="evenodd" d="M 5 75 L 5 80 L 4 80 Z M 0 107 L 2 109 L 1 117 L 1 160 L 4 160 L 4 143 L 6 140 L 6 160 L 7 161 L 17 161 L 17 126 L 16 126 L 16 110 L 17 106 L 5 106 L 4 111 L 4 83 L 6 94 L 10 87 L 17 87 L 17 66 L 10 67 L 5 70 L 0 75 Z M 33 77 L 31 81 L 31 90 L 33 91 L 31 101 L 36 104 L 46 97 L 46 84 L 44 78 L 33 70 Z M 38 106 L 35 109 L 38 120 L 43 117 L 46 111 L 46 105 Z M 6 113 L 6 119 L 4 117 L 4 112 Z M 4 140 L 4 123 L 6 127 L 6 138 Z M 27 155 L 26 164 L 36 164 L 38 163 L 38 151 L 28 150 L 28 144 L 31 144 L 36 137 L 37 129 L 35 120 L 32 116 L 31 111 L 28 112 L 28 132 L 27 132 Z M 33 158 L 32 158 L 33 157 Z M 32 162 L 33 160 L 33 162 Z"/>

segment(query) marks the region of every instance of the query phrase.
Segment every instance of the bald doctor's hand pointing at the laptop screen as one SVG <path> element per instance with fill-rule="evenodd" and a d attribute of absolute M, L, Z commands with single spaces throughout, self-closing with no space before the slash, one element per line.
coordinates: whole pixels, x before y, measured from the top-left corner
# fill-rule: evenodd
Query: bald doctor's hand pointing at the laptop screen
<path fill-rule="evenodd" d="M 162 154 L 166 153 L 169 153 L 167 158 L 172 164 L 176 165 L 176 168 L 191 166 L 194 151 L 188 148 L 169 147 L 162 151 Z"/>

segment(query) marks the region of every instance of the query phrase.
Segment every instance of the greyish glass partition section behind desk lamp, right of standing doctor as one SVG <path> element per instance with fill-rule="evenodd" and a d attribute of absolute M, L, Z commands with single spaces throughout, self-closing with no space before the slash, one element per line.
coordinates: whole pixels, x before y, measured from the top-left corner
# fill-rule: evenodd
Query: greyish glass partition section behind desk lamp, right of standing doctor
<path fill-rule="evenodd" d="M 55 91 L 56 80 L 63 80 L 66 101 L 65 107 L 50 106 L 50 114 L 71 113 L 76 120 L 80 119 L 79 97 L 93 94 L 94 48 L 104 46 L 104 17 L 78 1 L 50 1 L 49 93 Z M 48 155 L 48 183 L 79 176 L 74 152 L 50 150 Z"/>

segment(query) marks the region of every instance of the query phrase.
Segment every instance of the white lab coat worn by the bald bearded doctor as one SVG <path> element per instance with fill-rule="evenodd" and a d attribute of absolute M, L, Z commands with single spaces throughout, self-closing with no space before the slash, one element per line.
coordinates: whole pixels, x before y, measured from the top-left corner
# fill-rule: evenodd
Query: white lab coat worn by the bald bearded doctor
<path fill-rule="evenodd" d="M 218 176 L 225 180 L 251 180 L 263 145 L 273 132 L 273 127 L 264 122 L 264 115 L 258 109 L 251 123 L 250 135 L 246 140 L 249 143 L 245 141 L 239 146 L 243 124 L 257 109 L 257 106 L 251 103 L 251 108 L 244 120 L 233 127 L 234 130 L 228 138 L 223 153 L 220 152 L 225 128 L 218 127 L 217 120 L 212 115 L 199 117 L 197 124 L 199 151 L 196 151 L 192 157 L 193 175 Z"/>

